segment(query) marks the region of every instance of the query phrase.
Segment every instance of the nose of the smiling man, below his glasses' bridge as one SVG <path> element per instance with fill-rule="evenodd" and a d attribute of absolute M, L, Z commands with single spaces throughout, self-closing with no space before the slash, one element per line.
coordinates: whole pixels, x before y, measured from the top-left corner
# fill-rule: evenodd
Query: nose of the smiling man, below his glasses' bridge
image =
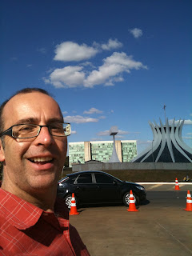
<path fill-rule="evenodd" d="M 43 126 L 35 139 L 35 143 L 38 145 L 50 146 L 54 142 L 53 136 L 50 134 L 48 127 Z"/>

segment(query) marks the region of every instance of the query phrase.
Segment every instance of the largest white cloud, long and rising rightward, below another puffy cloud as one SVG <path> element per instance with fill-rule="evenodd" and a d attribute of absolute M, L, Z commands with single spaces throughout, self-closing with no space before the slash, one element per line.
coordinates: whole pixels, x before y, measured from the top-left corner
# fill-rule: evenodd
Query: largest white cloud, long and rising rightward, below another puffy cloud
<path fill-rule="evenodd" d="M 136 62 L 132 56 L 126 53 L 114 52 L 110 57 L 103 60 L 104 64 L 87 75 L 83 71 L 83 66 L 66 66 L 56 69 L 50 74 L 50 78 L 43 78 L 44 82 L 51 83 L 56 88 L 67 87 L 94 87 L 104 84 L 113 86 L 114 82 L 122 82 L 122 73 L 130 73 L 130 70 L 147 69 L 142 62 Z"/>

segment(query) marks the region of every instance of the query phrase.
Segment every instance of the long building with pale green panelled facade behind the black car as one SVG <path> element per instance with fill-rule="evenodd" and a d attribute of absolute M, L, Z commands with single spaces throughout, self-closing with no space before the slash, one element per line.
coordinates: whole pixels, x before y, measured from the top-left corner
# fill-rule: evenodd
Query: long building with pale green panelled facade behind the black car
<path fill-rule="evenodd" d="M 69 164 L 85 163 L 90 160 L 109 162 L 113 152 L 113 141 L 70 142 Z M 130 162 L 137 156 L 136 140 L 115 141 L 120 162 Z"/>

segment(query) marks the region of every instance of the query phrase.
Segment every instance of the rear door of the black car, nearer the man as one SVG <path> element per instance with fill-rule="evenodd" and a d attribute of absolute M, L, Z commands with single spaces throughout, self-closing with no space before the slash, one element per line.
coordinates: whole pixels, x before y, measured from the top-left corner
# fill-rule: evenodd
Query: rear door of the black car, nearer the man
<path fill-rule="evenodd" d="M 93 183 L 92 174 L 79 174 L 74 182 L 75 194 L 81 203 L 94 203 L 97 186 Z"/>

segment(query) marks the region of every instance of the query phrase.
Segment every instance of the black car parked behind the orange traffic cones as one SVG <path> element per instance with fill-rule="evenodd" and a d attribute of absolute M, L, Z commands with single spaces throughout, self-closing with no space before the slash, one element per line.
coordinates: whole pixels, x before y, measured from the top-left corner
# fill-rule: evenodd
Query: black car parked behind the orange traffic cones
<path fill-rule="evenodd" d="M 133 182 L 122 182 L 102 171 L 66 174 L 66 177 L 58 182 L 58 197 L 64 198 L 69 208 L 72 193 L 78 206 L 106 203 L 124 203 L 129 206 L 130 190 L 133 191 L 135 205 L 146 199 L 146 190 L 143 186 Z"/>

